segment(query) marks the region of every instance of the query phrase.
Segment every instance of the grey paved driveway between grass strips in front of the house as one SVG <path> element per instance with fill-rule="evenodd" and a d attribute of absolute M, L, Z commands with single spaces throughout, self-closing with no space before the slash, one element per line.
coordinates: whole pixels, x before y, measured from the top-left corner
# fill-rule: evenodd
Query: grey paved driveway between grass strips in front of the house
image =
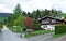
<path fill-rule="evenodd" d="M 53 41 L 54 38 L 52 36 L 53 36 L 53 32 L 42 35 L 42 36 L 32 37 L 32 38 L 28 38 L 28 40 L 29 41 Z"/>

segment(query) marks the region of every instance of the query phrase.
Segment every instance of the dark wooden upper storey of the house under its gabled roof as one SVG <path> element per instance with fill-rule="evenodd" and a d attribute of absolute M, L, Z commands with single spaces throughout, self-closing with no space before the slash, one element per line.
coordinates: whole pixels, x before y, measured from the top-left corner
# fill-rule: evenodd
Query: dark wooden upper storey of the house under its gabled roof
<path fill-rule="evenodd" d="M 58 19 L 54 17 L 43 17 L 40 19 L 42 25 L 56 25 L 56 24 L 66 24 L 64 19 Z"/>

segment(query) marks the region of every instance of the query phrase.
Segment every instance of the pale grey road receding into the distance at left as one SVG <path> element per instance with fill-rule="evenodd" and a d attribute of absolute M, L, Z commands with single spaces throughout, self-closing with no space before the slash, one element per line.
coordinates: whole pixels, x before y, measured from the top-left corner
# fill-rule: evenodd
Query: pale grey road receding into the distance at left
<path fill-rule="evenodd" d="M 12 31 L 10 31 L 7 27 L 2 29 L 0 32 L 0 41 L 28 41 L 25 38 L 20 38 Z"/>

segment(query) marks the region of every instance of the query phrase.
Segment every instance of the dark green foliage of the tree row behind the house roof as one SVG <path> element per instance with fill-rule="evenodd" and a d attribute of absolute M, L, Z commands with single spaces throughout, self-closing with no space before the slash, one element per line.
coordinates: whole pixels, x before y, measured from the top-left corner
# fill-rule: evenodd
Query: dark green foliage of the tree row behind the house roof
<path fill-rule="evenodd" d="M 61 18 L 63 16 L 63 13 L 62 13 L 62 11 L 56 11 L 54 9 L 52 9 L 52 10 L 45 9 L 45 11 L 44 10 L 40 11 L 37 9 L 36 11 L 29 13 L 28 16 L 33 17 L 34 19 L 44 17 L 44 16 L 52 16 L 52 17 L 59 17 Z"/>

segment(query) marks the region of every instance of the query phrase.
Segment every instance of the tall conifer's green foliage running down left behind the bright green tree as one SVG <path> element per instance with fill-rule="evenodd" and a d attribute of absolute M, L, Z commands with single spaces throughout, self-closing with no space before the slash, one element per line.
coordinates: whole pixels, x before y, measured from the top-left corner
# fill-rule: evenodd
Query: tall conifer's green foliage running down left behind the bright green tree
<path fill-rule="evenodd" d="M 9 14 L 8 17 L 8 26 L 13 26 L 14 20 L 21 15 L 22 11 L 21 11 L 21 6 L 20 4 L 16 5 L 16 8 L 14 9 L 13 13 Z"/>

